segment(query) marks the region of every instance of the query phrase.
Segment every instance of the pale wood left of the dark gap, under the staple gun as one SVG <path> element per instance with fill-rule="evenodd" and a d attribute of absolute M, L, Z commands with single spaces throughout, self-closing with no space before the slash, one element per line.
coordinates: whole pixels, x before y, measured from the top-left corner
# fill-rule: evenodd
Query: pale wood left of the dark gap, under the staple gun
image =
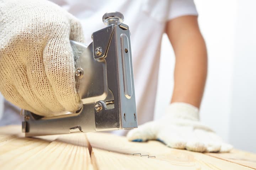
<path fill-rule="evenodd" d="M 26 138 L 17 129 L 0 128 L 0 169 L 93 169 L 85 134 Z"/>

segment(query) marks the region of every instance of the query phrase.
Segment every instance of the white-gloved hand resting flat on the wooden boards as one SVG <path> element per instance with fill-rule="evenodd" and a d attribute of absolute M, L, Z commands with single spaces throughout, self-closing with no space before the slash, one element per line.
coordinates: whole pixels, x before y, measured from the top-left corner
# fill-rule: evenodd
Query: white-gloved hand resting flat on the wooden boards
<path fill-rule="evenodd" d="M 127 138 L 135 142 L 159 140 L 171 148 L 195 152 L 229 152 L 233 148 L 200 123 L 198 109 L 187 103 L 170 104 L 164 117 L 130 130 Z"/>

